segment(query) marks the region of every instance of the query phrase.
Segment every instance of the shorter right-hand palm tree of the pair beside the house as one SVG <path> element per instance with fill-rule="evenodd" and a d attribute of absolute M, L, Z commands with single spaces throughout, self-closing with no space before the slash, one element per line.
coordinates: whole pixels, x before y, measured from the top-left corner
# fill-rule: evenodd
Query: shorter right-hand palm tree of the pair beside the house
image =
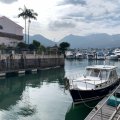
<path fill-rule="evenodd" d="M 30 23 L 31 23 L 31 19 L 36 20 L 36 16 L 38 16 L 37 13 L 34 12 L 33 9 L 28 9 L 27 10 L 27 15 L 28 15 L 28 44 L 29 44 L 29 30 L 30 30 Z"/>

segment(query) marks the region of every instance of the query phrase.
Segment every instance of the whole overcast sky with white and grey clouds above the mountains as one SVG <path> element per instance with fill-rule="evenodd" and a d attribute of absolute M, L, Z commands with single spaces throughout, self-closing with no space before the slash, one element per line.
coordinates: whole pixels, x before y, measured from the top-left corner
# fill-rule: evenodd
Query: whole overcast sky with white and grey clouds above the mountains
<path fill-rule="evenodd" d="M 17 18 L 24 5 L 38 13 L 31 35 L 58 41 L 69 34 L 120 34 L 120 0 L 0 0 L 0 15 L 24 27 Z"/>

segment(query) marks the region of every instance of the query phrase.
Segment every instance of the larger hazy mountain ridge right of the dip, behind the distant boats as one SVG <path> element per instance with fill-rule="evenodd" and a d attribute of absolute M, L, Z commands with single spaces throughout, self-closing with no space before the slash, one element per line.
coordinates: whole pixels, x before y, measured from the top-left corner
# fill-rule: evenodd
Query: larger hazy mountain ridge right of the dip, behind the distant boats
<path fill-rule="evenodd" d="M 59 42 L 68 42 L 71 48 L 112 48 L 120 46 L 120 34 L 68 35 Z"/>

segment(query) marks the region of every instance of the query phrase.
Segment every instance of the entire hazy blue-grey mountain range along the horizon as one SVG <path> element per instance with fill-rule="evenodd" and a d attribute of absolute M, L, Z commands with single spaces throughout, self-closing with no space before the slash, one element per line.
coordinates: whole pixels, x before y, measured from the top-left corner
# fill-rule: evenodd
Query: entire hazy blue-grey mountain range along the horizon
<path fill-rule="evenodd" d="M 61 42 L 68 42 L 70 48 L 113 48 L 120 47 L 120 34 L 109 35 L 106 33 L 91 34 L 86 36 L 68 35 L 59 42 L 49 40 L 42 35 L 30 36 L 30 41 L 37 40 L 44 46 L 54 46 Z"/>

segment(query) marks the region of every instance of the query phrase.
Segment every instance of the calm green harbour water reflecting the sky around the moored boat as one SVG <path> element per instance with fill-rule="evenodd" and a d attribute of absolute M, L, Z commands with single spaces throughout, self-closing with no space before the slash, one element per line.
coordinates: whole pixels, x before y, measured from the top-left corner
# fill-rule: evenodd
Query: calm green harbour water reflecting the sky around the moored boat
<path fill-rule="evenodd" d="M 64 68 L 1 79 L 0 120 L 84 120 L 91 108 L 86 104 L 73 105 L 63 78 L 82 74 L 87 65 L 103 63 L 66 60 Z M 120 61 L 107 61 L 107 64 L 118 66 L 120 71 Z"/>

